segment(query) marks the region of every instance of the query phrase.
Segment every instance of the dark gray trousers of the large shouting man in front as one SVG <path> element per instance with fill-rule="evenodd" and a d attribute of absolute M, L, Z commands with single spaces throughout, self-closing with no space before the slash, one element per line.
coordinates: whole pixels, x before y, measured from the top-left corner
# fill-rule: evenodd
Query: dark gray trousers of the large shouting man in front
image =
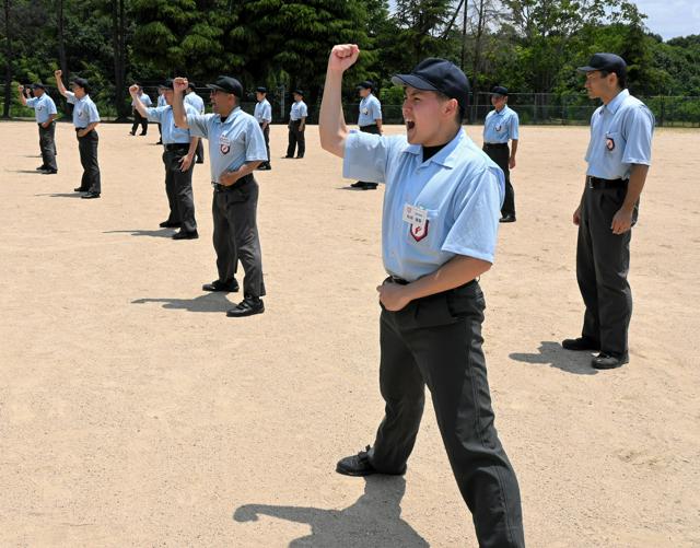
<path fill-rule="evenodd" d="M 430 388 L 457 486 L 481 548 L 524 547 L 517 479 L 493 425 L 481 350 L 483 294 L 476 281 L 382 311 L 380 388 L 386 403 L 370 458 L 400 471 L 413 450 Z"/>

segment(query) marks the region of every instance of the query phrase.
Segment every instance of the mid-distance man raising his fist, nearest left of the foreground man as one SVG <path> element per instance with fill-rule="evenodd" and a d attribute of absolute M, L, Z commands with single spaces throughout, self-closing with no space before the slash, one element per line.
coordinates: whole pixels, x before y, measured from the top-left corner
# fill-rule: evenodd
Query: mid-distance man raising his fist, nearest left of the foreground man
<path fill-rule="evenodd" d="M 262 258 L 257 226 L 258 184 L 255 168 L 265 162 L 265 138 L 253 116 L 241 109 L 243 86 L 235 78 L 219 77 L 209 95 L 214 114 L 187 114 L 183 104 L 186 78 L 173 81 L 173 115 L 178 128 L 209 140 L 211 184 L 214 187 L 213 244 L 219 278 L 205 291 L 238 291 L 234 275 L 238 258 L 245 271 L 243 301 L 226 316 L 243 317 L 265 312 L 261 296 Z"/>

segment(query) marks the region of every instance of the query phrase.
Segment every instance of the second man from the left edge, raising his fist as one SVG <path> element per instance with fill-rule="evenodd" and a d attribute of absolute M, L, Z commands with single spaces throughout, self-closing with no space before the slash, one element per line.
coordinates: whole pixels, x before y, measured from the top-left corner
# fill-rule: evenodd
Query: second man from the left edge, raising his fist
<path fill-rule="evenodd" d="M 97 107 L 88 94 L 90 89 L 88 80 L 75 78 L 71 83 L 72 92 L 69 92 L 61 80 L 62 72 L 54 72 L 58 91 L 69 103 L 73 105 L 73 126 L 78 137 L 78 150 L 80 151 L 80 163 L 83 166 L 83 176 L 80 186 L 74 190 L 85 193 L 82 198 L 100 198 L 102 185 L 100 180 L 100 164 L 97 163 L 97 126 L 100 124 L 100 113 Z"/>

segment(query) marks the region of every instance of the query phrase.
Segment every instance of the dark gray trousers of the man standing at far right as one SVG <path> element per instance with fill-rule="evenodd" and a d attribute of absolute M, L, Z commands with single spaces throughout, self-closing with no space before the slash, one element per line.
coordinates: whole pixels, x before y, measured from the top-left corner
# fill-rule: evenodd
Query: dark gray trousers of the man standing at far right
<path fill-rule="evenodd" d="M 632 231 L 612 234 L 610 225 L 622 207 L 627 187 L 583 193 L 576 246 L 576 279 L 586 306 L 582 335 L 600 350 L 623 355 L 632 317 L 632 290 L 627 281 Z M 632 221 L 637 222 L 638 207 Z"/>

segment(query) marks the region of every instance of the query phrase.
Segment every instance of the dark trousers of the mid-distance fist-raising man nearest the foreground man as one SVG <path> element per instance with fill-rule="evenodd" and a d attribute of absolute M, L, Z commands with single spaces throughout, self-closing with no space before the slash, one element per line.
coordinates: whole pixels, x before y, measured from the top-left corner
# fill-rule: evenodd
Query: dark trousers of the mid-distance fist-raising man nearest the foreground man
<path fill-rule="evenodd" d="M 213 244 L 219 280 L 228 282 L 243 266 L 243 295 L 265 295 L 262 256 L 257 226 L 258 184 L 253 175 L 238 180 L 230 190 L 214 190 L 212 217 Z"/>

